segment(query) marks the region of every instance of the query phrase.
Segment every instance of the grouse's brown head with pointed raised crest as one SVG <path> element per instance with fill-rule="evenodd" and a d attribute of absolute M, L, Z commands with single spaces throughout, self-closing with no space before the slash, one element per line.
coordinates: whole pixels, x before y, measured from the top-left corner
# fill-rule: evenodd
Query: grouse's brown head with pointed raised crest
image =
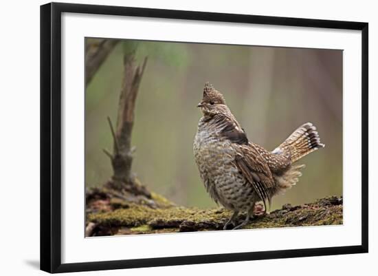
<path fill-rule="evenodd" d="M 201 112 L 205 116 L 214 116 L 228 112 L 228 107 L 225 105 L 225 98 L 221 92 L 214 89 L 210 83 L 205 83 L 203 98 L 197 107 L 201 108 Z"/>

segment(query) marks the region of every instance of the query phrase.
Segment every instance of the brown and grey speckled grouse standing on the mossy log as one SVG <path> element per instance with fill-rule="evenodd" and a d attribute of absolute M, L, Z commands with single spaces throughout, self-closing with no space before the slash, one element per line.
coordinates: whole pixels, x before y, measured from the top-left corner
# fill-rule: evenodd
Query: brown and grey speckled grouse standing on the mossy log
<path fill-rule="evenodd" d="M 300 158 L 324 147 L 312 123 L 304 123 L 273 151 L 247 138 L 245 130 L 225 103 L 223 94 L 205 83 L 197 134 L 194 136 L 194 159 L 210 198 L 233 211 L 223 229 L 232 224 L 241 229 L 254 217 L 256 203 L 271 206 L 274 195 L 285 192 L 298 182 L 304 164 Z M 239 213 L 245 220 L 237 225 Z"/>

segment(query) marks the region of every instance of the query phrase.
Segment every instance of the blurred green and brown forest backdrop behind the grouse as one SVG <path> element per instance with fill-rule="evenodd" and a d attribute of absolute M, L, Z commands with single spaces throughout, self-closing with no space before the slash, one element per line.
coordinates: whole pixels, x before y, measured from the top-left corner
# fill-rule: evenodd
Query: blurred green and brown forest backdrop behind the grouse
<path fill-rule="evenodd" d="M 92 40 L 93 39 L 87 39 Z M 98 187 L 112 175 L 102 149 L 112 149 L 107 122 L 116 121 L 123 49 L 137 43 L 137 59 L 148 56 L 137 95 L 132 171 L 150 191 L 184 206 L 216 206 L 199 178 L 192 151 L 209 81 L 249 140 L 274 149 L 302 123 L 311 122 L 324 149 L 300 162 L 300 181 L 272 201 L 302 204 L 342 195 L 342 50 L 120 41 L 85 92 L 85 184 Z"/>

